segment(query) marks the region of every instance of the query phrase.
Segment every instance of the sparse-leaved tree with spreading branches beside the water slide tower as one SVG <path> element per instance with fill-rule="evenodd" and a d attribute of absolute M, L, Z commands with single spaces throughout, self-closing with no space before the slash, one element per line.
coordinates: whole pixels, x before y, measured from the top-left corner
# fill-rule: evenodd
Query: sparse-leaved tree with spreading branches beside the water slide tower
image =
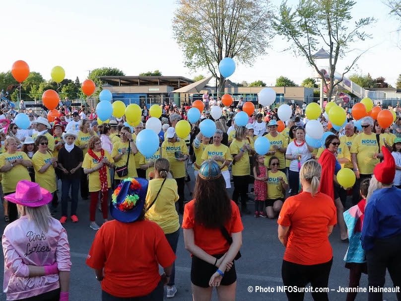
<path fill-rule="evenodd" d="M 352 63 L 340 73 L 341 77 L 334 80 L 334 73 L 338 59 L 349 56 L 349 47 L 353 42 L 363 41 L 370 35 L 363 31 L 364 27 L 372 24 L 372 17 L 361 18 L 354 25 L 351 10 L 356 4 L 353 0 L 301 0 L 293 10 L 282 2 L 279 14 L 274 18 L 273 26 L 278 34 L 285 36 L 292 42 L 287 50 L 295 49 L 295 53 L 305 57 L 308 63 L 316 70 L 323 79 L 331 99 L 334 88 L 343 80 L 361 55 L 359 53 Z M 321 44 L 329 48 L 329 78 L 317 66 L 314 53 Z M 331 82 L 328 87 L 328 82 Z M 322 103 L 323 105 L 323 103 Z"/>

